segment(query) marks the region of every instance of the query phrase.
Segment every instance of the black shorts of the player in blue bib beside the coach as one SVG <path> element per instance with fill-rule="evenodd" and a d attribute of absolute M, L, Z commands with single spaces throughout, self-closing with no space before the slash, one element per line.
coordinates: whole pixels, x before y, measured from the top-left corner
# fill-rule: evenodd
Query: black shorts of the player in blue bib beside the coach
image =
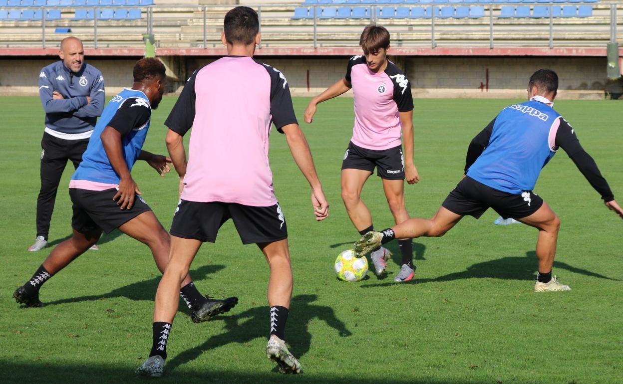
<path fill-rule="evenodd" d="M 130 209 L 121 209 L 113 200 L 115 194 L 116 188 L 105 190 L 70 188 L 69 196 L 74 203 L 72 228 L 80 233 L 98 229 L 110 233 L 141 213 L 151 210 L 140 195 L 136 195 L 134 205 Z"/>

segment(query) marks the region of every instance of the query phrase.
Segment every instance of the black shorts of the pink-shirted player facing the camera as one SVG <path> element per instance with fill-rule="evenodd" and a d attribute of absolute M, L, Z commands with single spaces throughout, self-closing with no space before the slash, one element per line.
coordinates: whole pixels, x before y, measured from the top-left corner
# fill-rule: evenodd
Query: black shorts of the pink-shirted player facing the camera
<path fill-rule="evenodd" d="M 361 169 L 374 171 L 383 179 L 404 180 L 404 156 L 402 147 L 397 146 L 389 149 L 366 149 L 348 143 L 348 149 L 344 154 L 342 169 Z"/>

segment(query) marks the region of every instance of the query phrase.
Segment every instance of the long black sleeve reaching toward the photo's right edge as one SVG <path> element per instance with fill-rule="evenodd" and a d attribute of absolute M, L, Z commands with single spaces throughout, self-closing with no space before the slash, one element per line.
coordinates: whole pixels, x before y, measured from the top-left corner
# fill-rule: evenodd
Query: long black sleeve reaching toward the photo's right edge
<path fill-rule="evenodd" d="M 556 146 L 562 148 L 571 158 L 579 171 L 582 172 L 591 187 L 597 191 L 604 202 L 614 200 L 612 190 L 606 179 L 601 176 L 597 164 L 591 155 L 587 154 L 582 148 L 578 136 L 574 129 L 563 118 L 560 119 L 560 126 L 556 132 Z"/>

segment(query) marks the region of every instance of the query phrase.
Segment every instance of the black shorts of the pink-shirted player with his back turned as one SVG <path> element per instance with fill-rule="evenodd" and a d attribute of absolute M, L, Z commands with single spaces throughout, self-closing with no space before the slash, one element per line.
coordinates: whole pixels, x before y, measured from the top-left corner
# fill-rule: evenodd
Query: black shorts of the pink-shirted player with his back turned
<path fill-rule="evenodd" d="M 169 233 L 214 243 L 219 228 L 229 219 L 243 244 L 270 243 L 288 238 L 285 218 L 279 204 L 252 207 L 223 202 L 192 202 L 179 200 Z"/>

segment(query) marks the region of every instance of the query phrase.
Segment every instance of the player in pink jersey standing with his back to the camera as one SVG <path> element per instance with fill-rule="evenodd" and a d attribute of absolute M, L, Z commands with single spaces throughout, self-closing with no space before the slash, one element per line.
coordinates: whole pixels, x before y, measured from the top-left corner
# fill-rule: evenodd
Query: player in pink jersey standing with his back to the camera
<path fill-rule="evenodd" d="M 312 154 L 298 127 L 288 81 L 276 68 L 252 57 L 259 43 L 257 13 L 249 7 L 227 12 L 222 42 L 227 57 L 191 75 L 166 119 L 171 160 L 179 174 L 181 200 L 171 224 L 169 266 L 158 286 L 150 357 L 136 372 L 159 377 L 166 341 L 178 308 L 175 287 L 205 241 L 213 243 L 221 225 L 232 218 L 242 243 L 256 243 L 270 266 L 268 299 L 269 358 L 283 373 L 301 365 L 285 346 L 284 331 L 292 297 L 287 227 L 272 187 L 269 133 L 272 123 L 285 134 L 295 162 L 312 187 L 316 220 L 328 204 Z M 183 135 L 190 129 L 189 159 Z"/>

